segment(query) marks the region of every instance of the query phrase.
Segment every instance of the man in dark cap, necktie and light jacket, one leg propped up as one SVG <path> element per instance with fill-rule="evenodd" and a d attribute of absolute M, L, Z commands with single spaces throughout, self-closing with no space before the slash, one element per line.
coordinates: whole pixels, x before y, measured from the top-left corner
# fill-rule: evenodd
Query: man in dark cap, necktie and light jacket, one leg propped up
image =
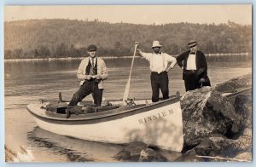
<path fill-rule="evenodd" d="M 104 60 L 96 56 L 96 45 L 87 48 L 89 57 L 85 57 L 79 65 L 77 77 L 81 80 L 79 90 L 73 95 L 70 107 L 76 106 L 84 97 L 92 94 L 94 104 L 101 106 L 103 94 L 103 80 L 108 78 L 108 70 Z"/>

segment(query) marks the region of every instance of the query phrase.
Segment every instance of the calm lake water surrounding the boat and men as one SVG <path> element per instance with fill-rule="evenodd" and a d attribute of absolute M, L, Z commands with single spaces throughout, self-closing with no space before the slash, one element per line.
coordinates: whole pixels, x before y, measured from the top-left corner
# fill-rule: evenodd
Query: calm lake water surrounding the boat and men
<path fill-rule="evenodd" d="M 31 151 L 34 162 L 96 161 L 113 162 L 124 146 L 82 141 L 55 135 L 37 127 L 26 105 L 38 99 L 70 100 L 79 88 L 76 72 L 81 60 L 30 60 L 4 63 L 5 145 L 13 153 Z M 109 77 L 104 81 L 104 98 L 121 99 L 129 77 L 131 59 L 107 59 Z M 208 62 L 212 86 L 252 72 L 251 62 Z M 148 62 L 137 58 L 131 74 L 130 97 L 151 97 Z M 185 92 L 182 70 L 176 65 L 169 72 L 170 95 Z M 92 99 L 91 96 L 86 97 Z M 20 148 L 21 147 L 21 148 Z M 180 153 L 161 151 L 170 161 Z"/>

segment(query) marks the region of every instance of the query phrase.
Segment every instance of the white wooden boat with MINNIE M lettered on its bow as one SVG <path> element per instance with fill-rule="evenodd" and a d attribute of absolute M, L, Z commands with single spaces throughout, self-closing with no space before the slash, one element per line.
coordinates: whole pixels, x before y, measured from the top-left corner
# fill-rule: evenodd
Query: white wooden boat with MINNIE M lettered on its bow
<path fill-rule="evenodd" d="M 27 110 L 40 128 L 55 134 L 115 144 L 143 141 L 152 147 L 182 151 L 183 121 L 179 96 L 156 103 L 138 100 L 134 101 L 136 105 L 128 107 L 123 106 L 122 101 L 109 103 L 112 106 L 81 105 L 84 111 L 90 107 L 93 112 L 72 114 L 70 118 L 66 118 L 64 112 L 47 111 L 45 106 L 49 101 L 30 104 Z"/>

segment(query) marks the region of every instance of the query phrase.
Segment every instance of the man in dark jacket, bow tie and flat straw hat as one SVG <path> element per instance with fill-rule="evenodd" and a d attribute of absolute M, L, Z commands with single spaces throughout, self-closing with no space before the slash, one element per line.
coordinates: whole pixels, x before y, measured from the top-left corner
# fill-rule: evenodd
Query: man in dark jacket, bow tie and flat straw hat
<path fill-rule="evenodd" d="M 183 68 L 183 80 L 186 91 L 199 89 L 202 86 L 211 86 L 207 76 L 206 56 L 197 49 L 193 40 L 188 43 L 189 51 L 177 56 L 177 65 Z"/>

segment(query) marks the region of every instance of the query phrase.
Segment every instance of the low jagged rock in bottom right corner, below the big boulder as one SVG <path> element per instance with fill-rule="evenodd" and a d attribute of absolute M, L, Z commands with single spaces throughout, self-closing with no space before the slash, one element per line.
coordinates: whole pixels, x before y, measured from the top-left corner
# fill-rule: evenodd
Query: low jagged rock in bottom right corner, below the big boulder
<path fill-rule="evenodd" d="M 252 153 L 252 134 L 241 135 L 238 140 L 229 139 L 224 135 L 214 134 L 206 137 L 199 145 L 183 153 L 180 159 L 200 156 L 202 161 L 250 161 L 252 158 L 239 158 L 242 153 Z M 245 154 L 247 155 L 247 154 Z"/>

